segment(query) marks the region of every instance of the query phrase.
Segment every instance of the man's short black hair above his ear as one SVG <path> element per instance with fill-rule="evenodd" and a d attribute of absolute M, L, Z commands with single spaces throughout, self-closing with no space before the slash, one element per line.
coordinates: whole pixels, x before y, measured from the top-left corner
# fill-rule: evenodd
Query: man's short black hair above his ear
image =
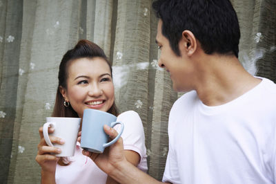
<path fill-rule="evenodd" d="M 179 41 L 190 30 L 206 54 L 239 54 L 239 21 L 229 0 L 157 0 L 152 3 L 161 31 L 180 56 Z"/>

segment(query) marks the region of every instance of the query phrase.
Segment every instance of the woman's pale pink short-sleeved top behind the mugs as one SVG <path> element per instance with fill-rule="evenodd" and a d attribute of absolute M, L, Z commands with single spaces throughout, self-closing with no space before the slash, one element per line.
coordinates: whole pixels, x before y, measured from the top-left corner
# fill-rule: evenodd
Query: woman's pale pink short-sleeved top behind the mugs
<path fill-rule="evenodd" d="M 146 146 L 144 128 L 141 118 L 135 111 L 126 111 L 121 113 L 118 121 L 124 122 L 124 132 L 121 138 L 124 140 L 124 149 L 136 151 L 140 155 L 140 163 L 137 166 L 142 171 L 146 172 Z M 116 125 L 118 131 L 120 125 Z M 56 183 L 106 183 L 107 174 L 101 171 L 95 163 L 81 153 L 82 149 L 77 142 L 75 156 L 69 158 L 72 162 L 68 166 L 57 165 Z"/>

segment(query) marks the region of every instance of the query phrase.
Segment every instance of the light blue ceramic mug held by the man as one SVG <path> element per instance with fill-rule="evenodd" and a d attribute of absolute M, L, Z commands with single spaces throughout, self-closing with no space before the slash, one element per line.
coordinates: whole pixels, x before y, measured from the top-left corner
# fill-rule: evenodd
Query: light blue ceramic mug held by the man
<path fill-rule="evenodd" d="M 94 153 L 103 153 L 106 147 L 114 144 L 124 131 L 124 124 L 117 122 L 117 117 L 105 111 L 85 109 L 81 126 L 81 147 Z M 108 142 L 108 135 L 103 131 L 103 125 L 114 127 L 121 124 L 117 137 Z"/>

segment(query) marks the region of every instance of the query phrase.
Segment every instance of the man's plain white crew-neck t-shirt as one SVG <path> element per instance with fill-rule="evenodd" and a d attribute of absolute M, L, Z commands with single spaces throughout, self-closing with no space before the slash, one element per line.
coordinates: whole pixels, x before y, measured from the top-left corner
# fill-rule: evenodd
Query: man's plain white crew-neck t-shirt
<path fill-rule="evenodd" d="M 276 176 L 276 84 L 208 107 L 196 91 L 170 111 L 163 181 L 181 184 L 270 184 Z"/>

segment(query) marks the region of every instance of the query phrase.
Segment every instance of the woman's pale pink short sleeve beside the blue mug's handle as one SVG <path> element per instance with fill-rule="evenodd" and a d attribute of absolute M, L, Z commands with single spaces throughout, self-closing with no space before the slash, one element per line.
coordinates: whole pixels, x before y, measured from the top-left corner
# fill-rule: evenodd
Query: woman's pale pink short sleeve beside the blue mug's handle
<path fill-rule="evenodd" d="M 144 127 L 138 113 L 126 111 L 117 117 L 117 121 L 124 123 L 124 131 L 121 138 L 124 140 L 124 149 L 137 152 L 141 158 L 146 155 Z M 120 131 L 121 125 L 116 125 L 116 131 Z"/>

